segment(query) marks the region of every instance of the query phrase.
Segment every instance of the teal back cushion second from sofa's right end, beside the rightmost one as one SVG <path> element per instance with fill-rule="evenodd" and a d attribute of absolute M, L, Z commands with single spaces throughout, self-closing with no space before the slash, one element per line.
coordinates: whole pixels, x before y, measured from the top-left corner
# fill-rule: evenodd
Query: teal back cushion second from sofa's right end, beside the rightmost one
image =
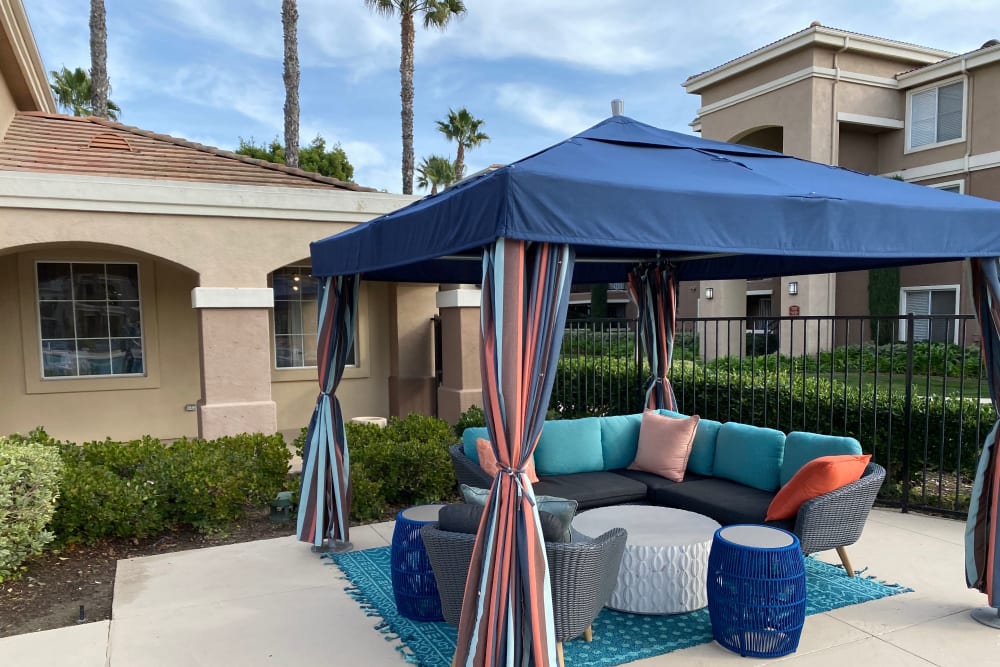
<path fill-rule="evenodd" d="M 784 449 L 781 431 L 726 422 L 715 441 L 714 476 L 761 491 L 777 491 Z"/>

